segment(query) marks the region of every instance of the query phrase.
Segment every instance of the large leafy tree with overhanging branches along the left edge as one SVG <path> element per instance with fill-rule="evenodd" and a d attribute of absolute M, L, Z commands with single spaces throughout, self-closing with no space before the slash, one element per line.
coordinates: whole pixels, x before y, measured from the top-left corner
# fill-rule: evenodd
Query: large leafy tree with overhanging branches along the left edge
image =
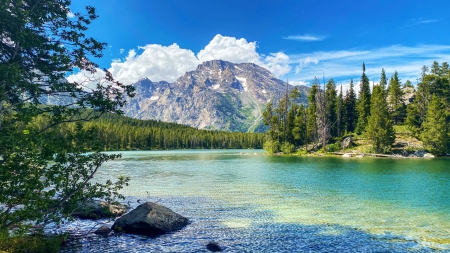
<path fill-rule="evenodd" d="M 92 7 L 71 19 L 70 1 L 0 2 L 0 229 L 43 228 L 60 223 L 94 198 L 122 197 L 128 178 L 91 182 L 105 161 L 117 155 L 87 147 L 95 128 L 80 122 L 103 113 L 120 114 L 133 88 L 111 74 L 69 82 L 74 69 L 101 73 L 90 58 L 106 44 L 86 37 L 97 18 Z M 90 83 L 93 81 L 93 83 Z M 43 106 L 48 100 L 55 106 Z M 90 113 L 80 117 L 81 112 Z M 69 124 L 69 122 L 78 122 Z"/>

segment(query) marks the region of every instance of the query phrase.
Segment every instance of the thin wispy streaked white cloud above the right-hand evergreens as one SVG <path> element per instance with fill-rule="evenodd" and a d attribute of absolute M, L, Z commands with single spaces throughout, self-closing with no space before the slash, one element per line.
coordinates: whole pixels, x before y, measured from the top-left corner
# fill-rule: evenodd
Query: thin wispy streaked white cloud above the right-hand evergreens
<path fill-rule="evenodd" d="M 381 69 L 390 77 L 394 71 L 399 73 L 402 82 L 416 83 L 423 65 L 430 66 L 433 61 L 445 62 L 450 59 L 450 46 L 418 45 L 407 47 L 393 45 L 372 50 L 319 51 L 308 54 L 289 55 L 291 64 L 301 66 L 301 71 L 289 75 L 289 79 L 310 82 L 315 76 L 334 78 L 347 84 L 353 78 L 355 87 L 359 85 L 362 63 L 366 64 L 366 74 L 370 81 L 379 82 Z M 317 59 L 317 64 L 305 64 L 306 59 Z M 298 67 L 297 66 L 297 67 Z M 296 67 L 296 69 L 297 69 Z M 344 86 L 345 87 L 345 86 Z"/>

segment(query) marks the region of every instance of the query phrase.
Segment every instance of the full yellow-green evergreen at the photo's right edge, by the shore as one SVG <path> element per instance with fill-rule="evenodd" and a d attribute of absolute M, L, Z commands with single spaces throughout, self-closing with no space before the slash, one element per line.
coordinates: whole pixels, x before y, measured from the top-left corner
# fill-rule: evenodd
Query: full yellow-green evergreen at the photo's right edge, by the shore
<path fill-rule="evenodd" d="M 450 118 L 445 101 L 433 95 L 423 123 L 421 139 L 425 148 L 435 155 L 450 152 Z"/>

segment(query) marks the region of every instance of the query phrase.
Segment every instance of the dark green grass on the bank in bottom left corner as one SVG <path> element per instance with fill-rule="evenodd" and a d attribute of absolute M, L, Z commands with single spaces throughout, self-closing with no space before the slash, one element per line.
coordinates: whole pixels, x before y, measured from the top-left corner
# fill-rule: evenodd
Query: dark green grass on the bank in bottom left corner
<path fill-rule="evenodd" d="M 0 253 L 54 253 L 59 252 L 66 235 L 9 235 L 0 231 Z"/>

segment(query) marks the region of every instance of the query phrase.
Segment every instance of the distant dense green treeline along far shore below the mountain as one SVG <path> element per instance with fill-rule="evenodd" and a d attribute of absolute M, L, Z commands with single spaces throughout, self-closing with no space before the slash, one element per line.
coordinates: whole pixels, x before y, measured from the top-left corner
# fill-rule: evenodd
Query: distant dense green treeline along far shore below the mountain
<path fill-rule="evenodd" d="M 247 149 L 262 148 L 264 134 L 198 130 L 156 120 L 115 114 L 83 123 L 95 128 L 95 145 L 103 150 Z"/>

